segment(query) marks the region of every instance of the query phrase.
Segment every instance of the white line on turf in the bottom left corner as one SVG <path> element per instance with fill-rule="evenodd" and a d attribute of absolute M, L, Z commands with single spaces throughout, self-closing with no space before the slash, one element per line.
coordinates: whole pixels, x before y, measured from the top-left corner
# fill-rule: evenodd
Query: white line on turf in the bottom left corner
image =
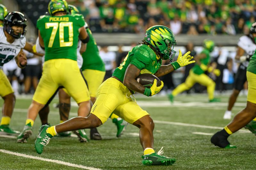
<path fill-rule="evenodd" d="M 89 167 L 89 166 L 72 164 L 72 163 L 69 163 L 69 162 L 64 162 L 64 161 L 55 160 L 55 159 L 45 159 L 45 158 L 41 158 L 41 157 L 37 157 L 37 156 L 31 156 L 31 155 L 27 155 L 27 154 L 23 154 L 23 153 L 7 151 L 7 150 L 4 150 L 4 149 L 0 149 L 0 152 L 15 155 L 15 156 L 20 156 L 20 157 L 24 157 L 24 158 L 29 158 L 29 159 L 37 159 L 37 160 L 42 160 L 42 161 L 46 161 L 46 162 L 53 162 L 53 163 L 56 163 L 56 164 L 66 165 L 66 166 L 70 166 L 70 167 L 89 169 L 89 170 L 101 170 L 99 168 L 93 168 L 93 167 Z"/>

